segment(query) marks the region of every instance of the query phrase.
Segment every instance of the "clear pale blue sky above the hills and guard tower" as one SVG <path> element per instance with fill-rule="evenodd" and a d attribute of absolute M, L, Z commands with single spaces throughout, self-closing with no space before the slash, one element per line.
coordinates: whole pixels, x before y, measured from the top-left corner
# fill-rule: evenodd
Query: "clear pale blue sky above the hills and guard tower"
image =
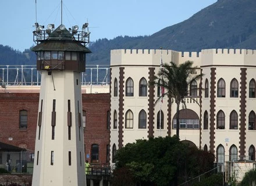
<path fill-rule="evenodd" d="M 88 20 L 91 41 L 111 40 L 119 35 L 152 35 L 189 19 L 216 1 L 63 0 L 62 20 L 67 28 L 81 28 Z M 23 52 L 34 44 L 35 20 L 45 27 L 61 24 L 61 0 L 0 0 L 0 17 L 0 44 Z"/>

